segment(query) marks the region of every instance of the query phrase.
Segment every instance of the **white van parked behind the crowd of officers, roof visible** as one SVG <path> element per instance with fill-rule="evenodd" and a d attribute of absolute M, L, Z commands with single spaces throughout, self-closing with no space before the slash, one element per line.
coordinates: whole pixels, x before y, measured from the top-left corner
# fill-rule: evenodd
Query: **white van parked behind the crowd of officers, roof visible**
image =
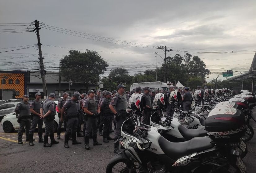
<path fill-rule="evenodd" d="M 144 87 L 149 86 L 151 90 L 155 90 L 157 93 L 160 90 L 169 90 L 169 86 L 164 83 L 164 82 L 141 82 L 141 83 L 132 83 L 131 87 L 130 87 L 130 91 L 132 91 L 133 89 L 135 89 L 137 86 L 140 86 L 141 89 L 143 90 Z"/>

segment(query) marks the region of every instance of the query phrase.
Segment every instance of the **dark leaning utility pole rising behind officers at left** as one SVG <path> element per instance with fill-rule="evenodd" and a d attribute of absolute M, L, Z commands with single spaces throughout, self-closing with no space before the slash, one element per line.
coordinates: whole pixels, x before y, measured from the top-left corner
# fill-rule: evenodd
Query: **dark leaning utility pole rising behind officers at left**
<path fill-rule="evenodd" d="M 42 76 L 42 82 L 43 82 L 43 98 L 47 99 L 47 87 L 46 87 L 46 80 L 45 80 L 45 74 L 46 71 L 44 70 L 44 65 L 43 65 L 43 55 L 42 55 L 42 49 L 41 49 L 41 42 L 40 42 L 40 35 L 39 35 L 39 22 L 35 20 L 35 29 L 33 32 L 36 32 L 37 35 L 37 41 L 38 41 L 38 50 L 39 50 L 39 63 L 40 63 L 40 73 Z"/>

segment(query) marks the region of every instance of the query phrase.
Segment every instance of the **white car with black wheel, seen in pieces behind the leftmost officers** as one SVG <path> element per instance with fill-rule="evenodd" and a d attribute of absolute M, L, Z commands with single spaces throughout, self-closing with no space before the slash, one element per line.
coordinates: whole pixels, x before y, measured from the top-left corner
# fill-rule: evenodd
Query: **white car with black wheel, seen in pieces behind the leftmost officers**
<path fill-rule="evenodd" d="M 54 101 L 54 102 L 57 103 L 57 101 Z M 53 123 L 54 132 L 57 131 L 58 123 L 59 123 L 59 117 L 58 117 L 58 113 L 56 112 L 54 123 Z M 63 126 L 64 126 L 64 123 L 62 124 L 62 127 Z M 2 127 L 5 133 L 13 133 L 15 129 L 20 128 L 20 124 L 18 123 L 18 119 L 16 118 L 15 112 L 9 113 L 8 115 L 3 117 Z M 44 128 L 44 123 L 43 123 L 43 128 Z"/>

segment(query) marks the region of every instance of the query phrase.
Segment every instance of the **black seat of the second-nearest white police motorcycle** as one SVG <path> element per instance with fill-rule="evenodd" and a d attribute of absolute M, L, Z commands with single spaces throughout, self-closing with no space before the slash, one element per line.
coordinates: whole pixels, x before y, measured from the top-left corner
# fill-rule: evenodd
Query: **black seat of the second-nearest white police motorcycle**
<path fill-rule="evenodd" d="M 200 129 L 188 129 L 184 127 L 183 125 L 179 125 L 178 127 L 179 132 L 182 134 L 182 136 L 186 140 L 190 140 L 194 137 L 204 137 L 207 136 L 207 132 L 205 128 L 200 128 Z"/>

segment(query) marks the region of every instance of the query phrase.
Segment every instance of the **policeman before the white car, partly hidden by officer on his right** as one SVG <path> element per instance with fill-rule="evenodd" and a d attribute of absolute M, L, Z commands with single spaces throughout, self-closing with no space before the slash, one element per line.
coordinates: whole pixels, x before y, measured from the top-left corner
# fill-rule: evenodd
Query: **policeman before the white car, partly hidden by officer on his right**
<path fill-rule="evenodd" d="M 67 101 L 68 96 L 69 96 L 69 93 L 64 92 L 64 93 L 62 94 L 62 97 L 63 97 L 63 98 L 62 98 L 62 99 L 59 99 L 58 104 L 57 104 L 57 109 L 58 109 L 58 111 L 60 112 L 60 113 L 58 113 L 58 116 L 59 116 L 59 124 L 58 124 L 58 128 L 57 128 L 57 139 L 61 139 L 61 126 L 62 126 L 62 123 L 64 123 L 64 129 L 65 129 L 65 131 L 66 131 L 67 123 L 66 123 L 65 120 L 64 120 L 64 121 L 61 121 L 61 109 L 62 109 L 64 103 Z"/>

